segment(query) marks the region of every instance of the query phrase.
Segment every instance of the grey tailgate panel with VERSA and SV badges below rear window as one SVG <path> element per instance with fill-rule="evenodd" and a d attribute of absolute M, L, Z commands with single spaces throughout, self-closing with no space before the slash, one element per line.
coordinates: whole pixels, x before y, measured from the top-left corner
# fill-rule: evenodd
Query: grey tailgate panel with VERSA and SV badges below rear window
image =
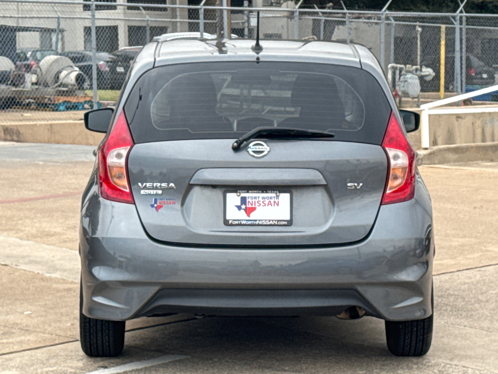
<path fill-rule="evenodd" d="M 229 139 L 136 145 L 128 159 L 129 178 L 149 235 L 175 243 L 220 245 L 347 243 L 367 235 L 386 180 L 387 160 L 380 146 L 265 143 L 270 152 L 261 159 L 244 149 L 233 152 Z M 231 192 L 235 196 L 227 196 Z M 283 206 L 287 194 L 289 208 Z M 244 197 L 247 207 L 238 210 Z M 252 204 L 250 197 L 256 198 Z M 248 211 L 249 205 L 255 209 Z M 227 217 L 234 208 L 236 214 Z M 278 208 L 282 211 L 270 211 Z M 227 218 L 247 222 L 226 224 Z M 279 223 L 287 220 L 290 224 Z"/>

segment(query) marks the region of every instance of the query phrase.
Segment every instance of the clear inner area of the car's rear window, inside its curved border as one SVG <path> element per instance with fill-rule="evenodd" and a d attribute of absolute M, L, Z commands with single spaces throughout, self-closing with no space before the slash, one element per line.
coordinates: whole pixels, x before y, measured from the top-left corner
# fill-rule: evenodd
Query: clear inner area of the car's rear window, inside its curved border
<path fill-rule="evenodd" d="M 173 78 L 153 99 L 151 117 L 159 130 L 227 131 L 228 120 L 234 132 L 252 130 L 255 123 L 357 131 L 365 106 L 334 75 L 241 69 Z"/>

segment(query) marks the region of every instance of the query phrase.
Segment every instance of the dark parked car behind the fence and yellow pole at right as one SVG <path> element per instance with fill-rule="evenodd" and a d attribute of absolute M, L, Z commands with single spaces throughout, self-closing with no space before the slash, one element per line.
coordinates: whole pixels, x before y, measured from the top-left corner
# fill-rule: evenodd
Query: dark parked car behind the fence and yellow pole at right
<path fill-rule="evenodd" d="M 430 81 L 420 80 L 421 90 L 423 92 L 439 91 L 439 55 L 427 56 L 421 62 L 421 65 L 430 67 L 436 75 Z M 475 55 L 467 54 L 466 60 L 465 84 L 474 86 L 491 86 L 495 84 L 495 69 L 486 65 L 480 58 Z M 445 90 L 453 91 L 455 77 L 455 55 L 447 54 L 444 68 L 444 87 Z"/>

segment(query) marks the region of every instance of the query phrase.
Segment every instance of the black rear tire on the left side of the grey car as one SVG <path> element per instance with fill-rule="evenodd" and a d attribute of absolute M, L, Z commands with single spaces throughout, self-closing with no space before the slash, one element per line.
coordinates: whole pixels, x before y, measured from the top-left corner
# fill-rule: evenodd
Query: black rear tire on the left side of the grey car
<path fill-rule="evenodd" d="M 124 348 L 124 321 L 98 320 L 83 314 L 83 293 L 80 283 L 80 343 L 91 357 L 115 357 Z"/>

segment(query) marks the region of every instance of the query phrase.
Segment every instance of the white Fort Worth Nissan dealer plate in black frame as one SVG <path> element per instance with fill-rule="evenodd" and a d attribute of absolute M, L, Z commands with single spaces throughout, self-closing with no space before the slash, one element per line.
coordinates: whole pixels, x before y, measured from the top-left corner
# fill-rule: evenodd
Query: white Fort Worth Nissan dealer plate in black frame
<path fill-rule="evenodd" d="M 292 225 L 292 193 L 277 190 L 225 191 L 227 226 Z"/>

